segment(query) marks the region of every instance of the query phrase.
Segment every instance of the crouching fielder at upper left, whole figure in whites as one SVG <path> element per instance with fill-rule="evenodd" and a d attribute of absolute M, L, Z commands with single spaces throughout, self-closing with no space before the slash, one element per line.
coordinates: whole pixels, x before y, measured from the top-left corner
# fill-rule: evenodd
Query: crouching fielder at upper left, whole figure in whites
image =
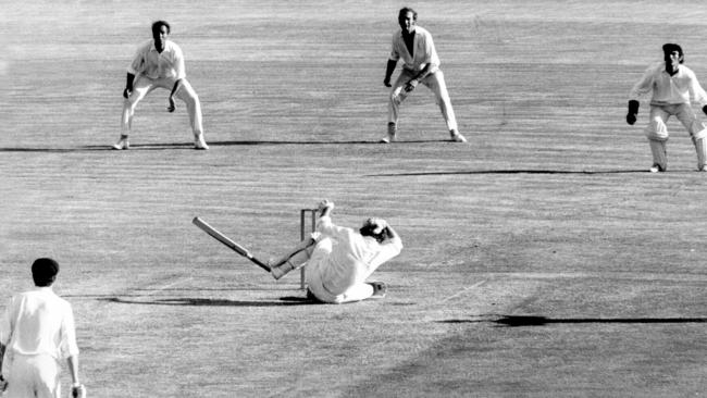
<path fill-rule="evenodd" d="M 128 149 L 128 136 L 133 127 L 133 115 L 138 102 L 150 91 L 158 87 L 171 90 L 169 112 L 174 112 L 176 105 L 174 97 L 187 105 L 191 132 L 194 133 L 194 148 L 209 149 L 203 139 L 201 125 L 201 103 L 191 85 L 186 79 L 184 54 L 182 49 L 169 40 L 171 27 L 164 21 L 152 24 L 152 40 L 138 47 L 133 62 L 127 67 L 127 82 L 123 90 L 123 116 L 121 119 L 121 138 L 113 145 L 113 149 Z"/>

